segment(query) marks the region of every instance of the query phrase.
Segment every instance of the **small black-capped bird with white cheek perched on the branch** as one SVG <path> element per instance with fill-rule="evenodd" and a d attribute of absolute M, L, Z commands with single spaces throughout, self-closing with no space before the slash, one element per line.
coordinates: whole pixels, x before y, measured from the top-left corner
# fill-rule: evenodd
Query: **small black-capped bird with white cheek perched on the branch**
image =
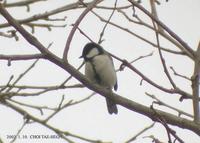
<path fill-rule="evenodd" d="M 111 90 L 118 88 L 117 75 L 114 68 L 112 57 L 107 51 L 95 42 L 87 43 L 82 51 L 80 58 L 85 61 L 85 76 L 93 83 Z M 117 114 L 116 103 L 106 98 L 109 114 Z"/>

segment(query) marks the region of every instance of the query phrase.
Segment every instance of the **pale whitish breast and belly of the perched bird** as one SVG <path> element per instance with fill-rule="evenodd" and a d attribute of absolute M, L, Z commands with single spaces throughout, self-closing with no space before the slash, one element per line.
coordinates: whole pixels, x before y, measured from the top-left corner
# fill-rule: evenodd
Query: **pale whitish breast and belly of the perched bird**
<path fill-rule="evenodd" d="M 101 80 L 100 85 L 106 88 L 113 88 L 117 82 L 117 76 L 114 69 L 112 60 L 108 55 L 98 55 L 92 59 L 92 63 L 95 66 L 95 70 Z M 90 62 L 86 62 L 85 75 L 93 82 L 97 82 L 95 79 L 94 70 Z"/>

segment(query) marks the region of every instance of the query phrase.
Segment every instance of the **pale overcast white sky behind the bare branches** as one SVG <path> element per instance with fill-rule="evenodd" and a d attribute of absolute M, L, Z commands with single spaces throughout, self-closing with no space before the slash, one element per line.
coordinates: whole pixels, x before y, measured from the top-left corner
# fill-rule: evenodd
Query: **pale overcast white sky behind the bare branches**
<path fill-rule="evenodd" d="M 11 2 L 11 1 L 9 1 Z M 66 3 L 75 2 L 75 0 L 50 0 L 49 2 L 41 2 L 38 4 L 31 5 L 31 12 L 27 13 L 26 8 L 13 8 L 8 9 L 9 12 L 15 18 L 25 18 L 33 14 L 38 14 L 46 10 L 51 10 L 56 7 L 62 6 Z M 102 5 L 113 6 L 113 0 L 106 0 Z M 125 0 L 120 0 L 118 5 L 128 4 Z M 144 1 L 144 6 L 148 6 L 148 2 Z M 187 42 L 193 49 L 197 48 L 198 42 L 200 40 L 200 1 L 199 0 L 169 0 L 169 2 L 161 2 L 161 5 L 158 6 L 158 15 L 160 20 L 165 23 L 171 30 L 173 30 L 177 35 L 179 35 L 185 42 Z M 60 17 L 67 16 L 66 28 L 53 28 L 51 32 L 47 29 L 36 28 L 35 36 L 43 45 L 48 46 L 49 43 L 53 42 L 50 50 L 58 56 L 62 56 L 62 52 L 66 43 L 67 36 L 71 30 L 70 24 L 74 23 L 74 20 L 80 15 L 82 10 L 69 11 L 61 13 L 58 16 Z M 102 12 L 101 10 L 96 10 L 105 18 L 110 16 L 111 11 Z M 4 20 L 0 17 L 0 20 Z M 133 24 L 129 24 L 128 21 L 125 21 L 124 18 L 119 17 L 115 14 L 112 18 L 116 23 L 119 22 L 121 25 L 128 27 L 129 29 L 140 33 L 145 36 L 147 39 L 153 39 L 155 42 L 155 34 L 152 31 L 147 30 L 144 27 L 138 27 Z M 149 21 L 145 17 L 146 21 Z M 4 20 L 5 21 L 5 20 Z M 56 24 L 63 24 L 63 22 L 56 22 Z M 90 36 L 94 41 L 98 41 L 99 34 L 104 26 L 104 23 L 99 22 L 99 19 L 96 18 L 91 13 L 81 22 L 80 28 L 83 31 L 86 31 L 87 35 Z M 8 29 L 3 29 L 8 30 Z M 31 31 L 30 28 L 27 30 Z M 19 35 L 19 34 L 18 34 Z M 153 35 L 153 36 L 152 36 Z M 102 43 L 102 46 L 113 53 L 121 57 L 122 59 L 127 59 L 129 61 L 138 58 L 139 56 L 149 54 L 154 52 L 153 56 L 142 59 L 136 63 L 136 66 L 139 70 L 142 71 L 146 76 L 150 77 L 156 83 L 162 84 L 166 87 L 170 87 L 170 84 L 165 77 L 162 66 L 160 63 L 159 55 L 156 49 L 153 49 L 150 45 L 138 40 L 130 34 L 120 31 L 119 29 L 108 26 L 104 35 L 105 41 Z M 76 32 L 74 39 L 70 45 L 69 53 L 69 62 L 78 67 L 82 60 L 78 57 L 82 53 L 83 46 L 89 42 L 83 35 L 78 31 Z M 31 45 L 20 37 L 20 41 L 16 42 L 14 39 L 0 37 L 0 53 L 1 54 L 32 54 L 37 53 L 38 51 Z M 175 49 L 173 45 L 168 43 L 166 40 L 162 40 L 161 44 L 170 49 Z M 174 56 L 172 54 L 164 53 L 166 58 L 166 63 L 168 66 L 173 66 L 181 74 L 184 74 L 190 77 L 193 73 L 193 63 L 189 58 Z M 1 73 L 0 73 L 0 84 L 5 84 L 10 75 L 14 74 L 15 78 L 17 75 L 22 73 L 33 61 L 26 61 L 26 64 L 21 62 L 12 62 L 10 67 L 7 66 L 6 61 L 0 61 Z M 120 63 L 116 60 L 115 67 L 119 68 Z M 84 69 L 81 69 L 81 72 L 84 72 Z M 130 72 L 130 70 L 125 69 L 122 72 L 118 72 L 118 85 L 119 89 L 117 93 L 121 96 L 127 97 L 133 101 L 139 102 L 143 105 L 149 106 L 152 103 L 152 100 L 147 97 L 144 92 L 148 92 L 154 95 L 157 95 L 161 100 L 166 103 L 182 109 L 186 112 L 192 114 L 192 107 L 190 101 L 179 102 L 179 96 L 165 94 L 146 82 L 143 82 L 143 85 L 140 86 L 141 78 L 135 73 Z M 48 61 L 41 60 L 35 66 L 35 68 L 25 76 L 19 84 L 24 85 L 55 85 L 62 83 L 67 77 L 66 73 L 61 68 L 56 65 L 51 64 Z M 187 92 L 191 92 L 190 83 L 181 78 L 175 78 L 177 85 L 183 88 Z M 70 83 L 78 83 L 77 80 L 73 79 Z M 91 91 L 87 89 L 68 89 L 62 91 L 56 91 L 47 93 L 45 95 L 35 97 L 35 98 L 16 98 L 16 100 L 24 101 L 30 104 L 37 105 L 48 105 L 48 106 L 57 106 L 59 104 L 62 95 L 66 96 L 66 103 L 71 99 L 82 99 L 89 94 Z M 157 107 L 157 106 L 155 106 Z M 81 136 L 91 138 L 91 139 L 101 139 L 103 141 L 113 141 L 114 143 L 122 143 L 137 132 L 139 132 L 144 127 L 150 125 L 152 121 L 138 113 L 124 109 L 121 106 L 118 106 L 119 113 L 118 115 L 109 115 L 107 113 L 105 99 L 101 96 L 95 95 L 90 100 L 81 103 L 80 105 L 75 105 L 69 108 L 66 108 L 60 112 L 55 118 L 50 120 L 50 124 L 55 125 L 57 128 L 67 130 L 74 134 L 79 134 Z M 159 109 L 164 109 L 158 107 Z M 40 113 L 35 110 L 27 109 L 31 111 L 34 115 L 40 116 Z M 171 113 L 177 114 L 169 109 L 164 109 L 165 111 L 170 111 Z M 50 113 L 50 112 L 49 112 Z M 46 113 L 44 116 L 47 116 L 49 113 Z M 10 110 L 5 106 L 0 105 L 0 137 L 3 141 L 7 142 L 7 135 L 14 135 L 21 127 L 23 123 L 22 117 Z M 174 127 L 177 131 L 177 134 L 186 142 L 186 143 L 198 143 L 200 137 L 196 134 L 183 129 L 178 129 Z M 23 129 L 22 135 L 47 135 L 54 134 L 48 129 L 40 126 L 39 124 L 29 124 Z M 141 135 L 134 143 L 149 143 L 150 139 L 143 139 L 143 136 L 154 135 L 156 138 L 161 141 L 167 142 L 167 134 L 163 126 L 156 124 L 154 128 L 145 132 Z M 27 140 L 17 140 L 17 143 L 26 143 Z M 29 140 L 29 143 L 34 142 L 43 142 L 43 143 L 62 143 L 63 140 Z"/>

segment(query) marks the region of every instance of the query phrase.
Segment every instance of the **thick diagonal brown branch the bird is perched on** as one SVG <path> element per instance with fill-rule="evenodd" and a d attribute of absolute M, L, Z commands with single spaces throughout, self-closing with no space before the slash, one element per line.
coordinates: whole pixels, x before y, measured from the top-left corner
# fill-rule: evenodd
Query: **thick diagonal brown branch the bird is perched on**
<path fill-rule="evenodd" d="M 63 68 L 65 71 L 70 73 L 73 77 L 75 77 L 77 80 L 82 82 L 89 89 L 99 93 L 100 95 L 102 95 L 106 98 L 110 98 L 110 99 L 114 100 L 115 103 L 117 103 L 131 111 L 145 115 L 145 116 L 151 118 L 152 120 L 154 120 L 154 113 L 156 111 L 159 115 L 161 115 L 166 120 L 166 122 L 168 124 L 175 125 L 175 126 L 178 126 L 180 128 L 184 128 L 184 129 L 189 129 L 189 130 L 195 132 L 196 134 L 200 135 L 199 125 L 190 120 L 187 120 L 187 119 L 181 118 L 181 117 L 177 117 L 175 115 L 172 115 L 170 113 L 160 111 L 160 110 L 153 111 L 149 107 L 146 107 L 142 104 L 131 101 L 131 100 L 124 98 L 120 95 L 117 95 L 115 93 L 110 94 L 110 90 L 107 90 L 99 85 L 93 84 L 83 74 L 81 74 L 79 71 L 77 71 L 76 68 L 71 66 L 69 63 L 64 62 L 63 59 L 57 57 L 56 55 L 54 55 L 53 53 L 51 53 L 50 51 L 45 49 L 45 47 L 36 38 L 34 38 L 32 35 L 30 35 L 18 22 L 16 22 L 11 17 L 11 15 L 5 10 L 5 8 L 1 4 L 0 4 L 0 13 L 8 20 L 8 22 L 13 27 L 16 28 L 16 30 L 18 30 L 23 35 L 23 37 L 30 44 L 34 45 L 38 50 L 40 50 L 49 61 L 56 64 L 60 68 Z M 127 63 L 125 63 L 125 64 L 130 66 Z M 24 115 L 23 111 L 19 110 L 19 112 L 22 115 Z M 43 121 L 38 120 L 35 117 L 31 117 L 31 118 L 34 119 L 35 121 L 38 121 L 39 123 L 43 123 Z"/>

